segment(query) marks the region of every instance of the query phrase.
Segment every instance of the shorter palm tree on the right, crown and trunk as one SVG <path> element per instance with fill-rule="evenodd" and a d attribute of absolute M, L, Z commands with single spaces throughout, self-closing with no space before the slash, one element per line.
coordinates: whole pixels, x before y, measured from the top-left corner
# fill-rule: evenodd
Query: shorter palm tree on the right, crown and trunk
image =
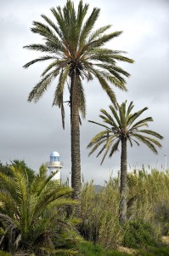
<path fill-rule="evenodd" d="M 101 164 L 108 153 L 109 157 L 112 157 L 121 143 L 121 206 L 119 215 L 121 224 L 125 224 L 127 221 L 127 142 L 131 147 L 132 142 L 137 145 L 139 145 L 139 142 L 144 143 L 153 153 L 158 154 L 156 147 L 161 148 L 161 143 L 155 138 L 163 138 L 159 133 L 144 128 L 148 126 L 149 122 L 153 121 L 151 117 L 138 120 L 138 117 L 148 108 L 143 108 L 138 112 L 132 113 L 133 107 L 132 102 L 127 107 L 126 101 L 120 106 L 118 105 L 117 110 L 110 105 L 110 113 L 101 109 L 99 117 L 105 125 L 89 120 L 89 122 L 105 128 L 104 131 L 99 132 L 93 137 L 87 146 L 87 148 L 92 148 L 89 153 L 90 155 L 100 145 L 103 145 L 97 154 L 98 157 L 99 154 L 104 152 Z"/>

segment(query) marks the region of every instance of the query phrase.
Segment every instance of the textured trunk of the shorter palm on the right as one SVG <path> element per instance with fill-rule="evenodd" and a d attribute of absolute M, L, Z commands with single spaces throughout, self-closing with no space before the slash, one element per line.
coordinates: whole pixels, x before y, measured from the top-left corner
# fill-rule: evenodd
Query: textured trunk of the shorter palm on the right
<path fill-rule="evenodd" d="M 121 139 L 121 203 L 119 220 L 121 224 L 127 222 L 127 138 Z"/>

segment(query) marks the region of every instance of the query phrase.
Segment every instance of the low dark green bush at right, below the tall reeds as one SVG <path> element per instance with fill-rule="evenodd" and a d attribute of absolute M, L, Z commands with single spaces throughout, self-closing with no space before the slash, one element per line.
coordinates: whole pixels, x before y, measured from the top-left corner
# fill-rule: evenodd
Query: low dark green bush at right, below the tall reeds
<path fill-rule="evenodd" d="M 125 247 L 139 248 L 157 245 L 155 230 L 149 223 L 144 223 L 143 220 L 131 221 L 127 223 L 126 228 L 123 240 Z"/>

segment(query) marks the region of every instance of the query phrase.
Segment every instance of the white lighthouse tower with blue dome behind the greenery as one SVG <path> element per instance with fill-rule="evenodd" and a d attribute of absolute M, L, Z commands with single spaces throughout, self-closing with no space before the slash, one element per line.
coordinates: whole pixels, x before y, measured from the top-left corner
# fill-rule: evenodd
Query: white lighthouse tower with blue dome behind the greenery
<path fill-rule="evenodd" d="M 53 172 L 56 172 L 53 179 L 61 182 L 61 173 L 60 170 L 63 168 L 63 162 L 60 162 L 59 153 L 54 151 L 50 154 L 50 161 L 47 163 L 48 174 L 50 175 Z"/>

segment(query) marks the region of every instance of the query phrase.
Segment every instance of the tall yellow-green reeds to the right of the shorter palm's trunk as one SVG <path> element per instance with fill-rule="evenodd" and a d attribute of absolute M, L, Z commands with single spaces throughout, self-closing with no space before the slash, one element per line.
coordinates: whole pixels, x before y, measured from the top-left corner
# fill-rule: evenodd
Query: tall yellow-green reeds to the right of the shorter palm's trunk
<path fill-rule="evenodd" d="M 134 170 L 127 174 L 127 198 L 136 200 L 127 211 L 128 218 L 144 219 L 157 233 L 169 235 L 169 172 L 156 169 Z"/>

